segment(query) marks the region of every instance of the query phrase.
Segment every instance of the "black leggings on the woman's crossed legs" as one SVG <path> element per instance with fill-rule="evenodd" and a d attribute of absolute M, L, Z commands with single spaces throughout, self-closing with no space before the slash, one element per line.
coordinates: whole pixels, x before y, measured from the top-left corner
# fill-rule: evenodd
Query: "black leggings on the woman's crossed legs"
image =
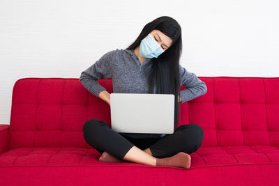
<path fill-rule="evenodd" d="M 173 134 L 166 134 L 164 137 L 124 137 L 112 130 L 110 125 L 98 119 L 86 121 L 83 132 L 87 144 L 96 148 L 101 154 L 107 151 L 120 160 L 123 160 L 133 146 L 137 146 L 141 150 L 150 148 L 153 157 L 157 158 L 170 157 L 179 152 L 190 154 L 202 145 L 204 137 L 202 127 L 194 123 L 180 125 Z"/>

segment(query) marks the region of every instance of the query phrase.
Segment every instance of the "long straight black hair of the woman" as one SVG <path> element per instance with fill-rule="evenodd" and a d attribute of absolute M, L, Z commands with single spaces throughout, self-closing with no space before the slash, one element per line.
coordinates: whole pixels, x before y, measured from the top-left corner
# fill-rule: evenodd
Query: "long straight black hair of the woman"
<path fill-rule="evenodd" d="M 135 49 L 153 29 L 157 29 L 172 39 L 172 45 L 158 58 L 151 59 L 151 73 L 148 79 L 149 93 L 156 86 L 156 94 L 174 95 L 174 130 L 177 127 L 177 119 L 181 121 L 180 102 L 178 95 L 180 90 L 179 59 L 182 52 L 181 26 L 172 17 L 162 16 L 156 18 L 144 26 L 140 36 L 126 49 Z"/>

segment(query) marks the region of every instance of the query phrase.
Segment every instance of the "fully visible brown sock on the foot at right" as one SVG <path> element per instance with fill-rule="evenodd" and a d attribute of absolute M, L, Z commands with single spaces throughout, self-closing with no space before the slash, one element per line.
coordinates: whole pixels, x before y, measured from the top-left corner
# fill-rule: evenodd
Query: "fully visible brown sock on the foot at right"
<path fill-rule="evenodd" d="M 189 168 L 191 166 L 191 157 L 187 153 L 179 152 L 171 157 L 156 158 L 156 166 L 178 166 Z"/>

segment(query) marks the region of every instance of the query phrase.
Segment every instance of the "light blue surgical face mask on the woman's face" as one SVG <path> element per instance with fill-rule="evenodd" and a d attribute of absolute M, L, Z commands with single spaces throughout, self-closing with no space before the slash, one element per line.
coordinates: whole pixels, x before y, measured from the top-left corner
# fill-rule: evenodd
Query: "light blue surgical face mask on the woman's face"
<path fill-rule="evenodd" d="M 145 58 L 158 58 L 163 52 L 165 51 L 150 33 L 140 42 L 140 55 Z"/>

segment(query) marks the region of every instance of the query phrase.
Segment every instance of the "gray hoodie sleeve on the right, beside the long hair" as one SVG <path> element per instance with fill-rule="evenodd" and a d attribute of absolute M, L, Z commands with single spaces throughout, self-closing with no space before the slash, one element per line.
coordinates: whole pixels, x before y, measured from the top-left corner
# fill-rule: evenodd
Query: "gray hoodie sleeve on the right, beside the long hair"
<path fill-rule="evenodd" d="M 180 73 L 180 86 L 185 86 L 187 89 L 180 91 L 181 103 L 193 100 L 194 98 L 204 95 L 207 91 L 206 84 L 202 82 L 197 75 L 192 72 L 188 72 L 186 68 L 179 65 Z"/>

